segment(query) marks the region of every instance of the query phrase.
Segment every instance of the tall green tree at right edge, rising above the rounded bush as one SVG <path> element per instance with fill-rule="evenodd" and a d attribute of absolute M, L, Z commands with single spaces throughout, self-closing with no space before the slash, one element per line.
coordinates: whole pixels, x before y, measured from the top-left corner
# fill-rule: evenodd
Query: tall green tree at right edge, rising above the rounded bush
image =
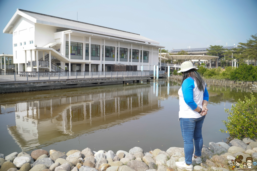
<path fill-rule="evenodd" d="M 257 60 L 257 34 L 251 35 L 251 37 L 252 37 L 252 39 L 250 38 L 249 40 L 247 40 L 247 43 L 239 43 L 238 47 L 240 49 L 242 49 L 244 57 L 245 57 L 244 59 L 254 60 L 254 66 L 256 66 L 256 60 Z"/>

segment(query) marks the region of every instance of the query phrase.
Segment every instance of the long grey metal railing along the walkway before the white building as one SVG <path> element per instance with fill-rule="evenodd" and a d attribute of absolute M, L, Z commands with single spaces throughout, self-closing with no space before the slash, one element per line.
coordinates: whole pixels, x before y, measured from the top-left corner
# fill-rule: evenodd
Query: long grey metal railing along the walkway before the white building
<path fill-rule="evenodd" d="M 0 72 L 0 81 L 149 76 L 149 71 Z"/>

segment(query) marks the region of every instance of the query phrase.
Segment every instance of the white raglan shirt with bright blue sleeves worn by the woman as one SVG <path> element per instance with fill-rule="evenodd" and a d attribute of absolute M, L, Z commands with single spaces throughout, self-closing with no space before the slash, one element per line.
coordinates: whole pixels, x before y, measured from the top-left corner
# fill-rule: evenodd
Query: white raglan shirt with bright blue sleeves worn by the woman
<path fill-rule="evenodd" d="M 202 117 L 197 111 L 194 111 L 197 106 L 202 108 L 202 101 L 209 101 L 209 94 L 206 89 L 204 92 L 200 91 L 196 82 L 192 77 L 188 77 L 184 80 L 182 86 L 178 90 L 179 96 L 179 118 L 199 118 Z"/>

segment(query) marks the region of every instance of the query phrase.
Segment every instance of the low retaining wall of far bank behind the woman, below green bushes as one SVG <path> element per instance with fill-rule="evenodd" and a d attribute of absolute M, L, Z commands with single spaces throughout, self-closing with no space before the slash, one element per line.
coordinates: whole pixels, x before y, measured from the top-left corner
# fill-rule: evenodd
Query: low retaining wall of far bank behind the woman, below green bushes
<path fill-rule="evenodd" d="M 170 78 L 175 80 L 182 81 L 182 76 L 170 76 Z M 205 83 L 210 86 L 232 86 L 232 87 L 252 87 L 252 84 L 257 85 L 257 82 L 244 82 L 244 81 L 226 81 L 226 80 L 214 80 L 214 79 L 205 79 Z"/>

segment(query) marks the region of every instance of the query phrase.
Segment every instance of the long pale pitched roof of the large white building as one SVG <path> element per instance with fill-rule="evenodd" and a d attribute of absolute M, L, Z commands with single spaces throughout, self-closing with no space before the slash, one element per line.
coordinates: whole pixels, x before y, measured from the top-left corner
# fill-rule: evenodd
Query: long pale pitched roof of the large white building
<path fill-rule="evenodd" d="M 139 42 L 159 44 L 159 42 L 156 42 L 154 40 L 141 36 L 140 34 L 135 34 L 131 32 L 126 32 L 126 31 L 117 30 L 117 29 L 108 28 L 108 27 L 102 27 L 98 25 L 83 23 L 83 22 L 69 20 L 69 19 L 64 19 L 60 17 L 54 17 L 51 15 L 25 11 L 22 9 L 17 9 L 12 19 L 4 28 L 3 33 L 9 33 L 9 34 L 12 33 L 11 30 L 12 30 L 13 24 L 15 23 L 15 21 L 18 19 L 19 16 L 23 16 L 34 23 L 52 25 L 56 27 L 65 28 L 66 30 L 79 30 L 83 32 L 101 34 L 101 35 L 123 38 L 128 40 L 135 40 Z"/>

